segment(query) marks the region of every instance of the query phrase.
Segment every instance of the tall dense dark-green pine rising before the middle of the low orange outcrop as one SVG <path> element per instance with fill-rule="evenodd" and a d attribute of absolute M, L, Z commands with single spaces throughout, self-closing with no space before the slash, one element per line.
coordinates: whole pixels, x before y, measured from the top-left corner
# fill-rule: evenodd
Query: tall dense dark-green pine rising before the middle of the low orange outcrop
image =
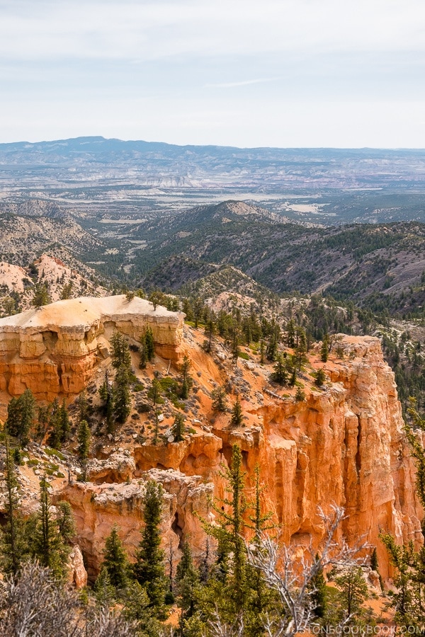
<path fill-rule="evenodd" d="M 133 573 L 138 583 L 145 586 L 150 606 L 159 619 L 164 617 L 166 575 L 164 551 L 161 549 L 162 486 L 148 481 L 143 499 L 143 519 L 140 548 L 136 553 Z"/>

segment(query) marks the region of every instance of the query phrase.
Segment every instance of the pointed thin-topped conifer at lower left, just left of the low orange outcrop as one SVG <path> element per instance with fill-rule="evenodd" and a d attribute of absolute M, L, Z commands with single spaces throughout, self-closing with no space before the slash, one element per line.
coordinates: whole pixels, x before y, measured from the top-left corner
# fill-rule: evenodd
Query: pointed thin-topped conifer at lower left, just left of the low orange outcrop
<path fill-rule="evenodd" d="M 66 573 L 69 546 L 62 539 L 57 521 L 52 516 L 48 487 L 46 478 L 42 478 L 33 552 L 42 566 L 50 568 L 57 578 L 62 578 Z"/>

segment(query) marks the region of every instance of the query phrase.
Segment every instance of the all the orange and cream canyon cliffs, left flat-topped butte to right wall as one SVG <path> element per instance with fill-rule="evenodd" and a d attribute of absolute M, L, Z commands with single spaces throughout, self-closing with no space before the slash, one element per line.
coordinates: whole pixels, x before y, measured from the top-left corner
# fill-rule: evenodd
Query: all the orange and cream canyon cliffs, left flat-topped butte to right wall
<path fill-rule="evenodd" d="M 84 323 L 81 314 L 73 314 L 77 309 L 86 315 Z M 216 519 L 212 498 L 225 497 L 222 469 L 231 462 L 234 444 L 242 449 L 248 502 L 254 499 L 256 464 L 260 467 L 261 506 L 271 512 L 279 541 L 305 548 L 311 542 L 314 550 L 319 549 L 326 534 L 319 507 L 329 514 L 337 505 L 346 512 L 337 539 L 352 546 L 376 546 L 383 578 L 391 577 L 392 569 L 380 532 L 390 532 L 400 544 L 422 544 L 423 511 L 415 493 L 414 461 L 404 436 L 394 374 L 378 338 L 339 335 L 339 354 L 333 352 L 324 365 L 319 345 L 314 345 L 300 374 L 305 399 L 297 401 L 295 388 L 268 384 L 270 369 L 249 348 L 247 360 L 236 368 L 225 360 L 218 341 L 208 355 L 202 347 L 203 331 L 183 327 L 181 313 L 159 306 L 154 310 L 142 299 L 128 302 L 123 296 L 72 299 L 0 321 L 1 389 L 16 395 L 30 387 L 38 398 L 60 395 L 70 400 L 96 374 L 103 378 L 110 364 L 108 338 L 113 329 L 137 341 L 147 324 L 157 355 L 146 371 L 135 372 L 137 377 L 146 383 L 154 374 L 164 377 L 173 369 L 178 373 L 179 357 L 187 352 L 196 411 L 187 408 L 183 414 L 188 427 L 182 442 L 174 442 L 175 411 L 168 408 L 168 398 L 158 441 L 147 435 L 149 420 L 143 421 L 144 415 L 135 411 L 127 436 L 116 432 L 96 443 L 85 482 L 77 481 L 81 471 L 75 460 L 70 481 L 65 478 L 67 464 L 57 460 L 62 479 L 52 478 L 52 498 L 72 505 L 76 541 L 90 581 L 99 571 L 114 524 L 134 556 L 149 479 L 164 488 L 164 549 L 178 558 L 182 541 L 188 539 L 195 555 L 203 555 L 203 523 Z M 43 371 L 49 366 L 50 374 Z M 321 388 L 314 384 L 319 367 L 327 375 Z M 241 427 L 230 427 L 227 413 L 212 410 L 212 389 L 225 378 L 241 399 Z M 26 465 L 21 472 L 27 487 L 37 483 L 33 468 Z M 250 534 L 246 529 L 247 538 Z"/>

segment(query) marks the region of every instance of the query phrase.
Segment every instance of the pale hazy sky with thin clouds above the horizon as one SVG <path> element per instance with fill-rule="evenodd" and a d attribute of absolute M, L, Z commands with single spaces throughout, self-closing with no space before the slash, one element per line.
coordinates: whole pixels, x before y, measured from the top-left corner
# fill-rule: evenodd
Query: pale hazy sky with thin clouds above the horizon
<path fill-rule="evenodd" d="M 425 148 L 424 0 L 0 0 L 0 142 Z"/>

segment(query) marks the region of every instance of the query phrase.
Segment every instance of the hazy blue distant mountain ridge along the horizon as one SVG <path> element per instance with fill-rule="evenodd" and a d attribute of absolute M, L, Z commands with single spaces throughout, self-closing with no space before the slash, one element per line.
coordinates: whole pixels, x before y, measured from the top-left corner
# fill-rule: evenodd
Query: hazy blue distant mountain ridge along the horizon
<path fill-rule="evenodd" d="M 131 168 L 149 173 L 149 183 L 166 176 L 200 186 L 266 185 L 273 188 L 425 187 L 423 149 L 237 148 L 177 146 L 165 142 L 76 137 L 51 142 L 0 144 L 0 167 L 60 166 L 76 175 L 88 168 Z M 156 181 L 155 181 L 156 178 Z M 161 179 L 162 178 L 162 179 Z M 208 180 L 208 181 L 207 181 Z M 168 182 L 166 182 L 168 183 Z M 179 183 L 178 181 L 176 183 Z"/>

